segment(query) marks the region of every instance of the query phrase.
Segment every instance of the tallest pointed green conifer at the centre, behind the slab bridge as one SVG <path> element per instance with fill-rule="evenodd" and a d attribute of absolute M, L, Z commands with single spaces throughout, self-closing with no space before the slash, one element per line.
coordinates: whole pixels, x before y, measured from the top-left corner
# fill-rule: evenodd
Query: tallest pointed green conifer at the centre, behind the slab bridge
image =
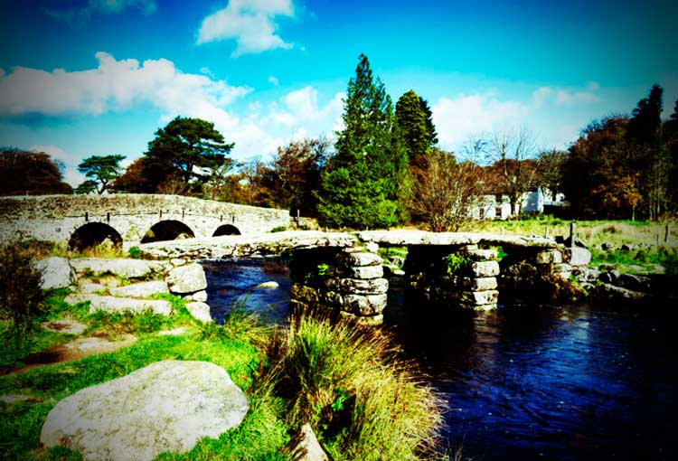
<path fill-rule="evenodd" d="M 387 227 L 402 217 L 399 183 L 406 152 L 394 127 L 391 97 L 361 54 L 344 100 L 344 130 L 322 174 L 318 215 L 330 226 Z"/>

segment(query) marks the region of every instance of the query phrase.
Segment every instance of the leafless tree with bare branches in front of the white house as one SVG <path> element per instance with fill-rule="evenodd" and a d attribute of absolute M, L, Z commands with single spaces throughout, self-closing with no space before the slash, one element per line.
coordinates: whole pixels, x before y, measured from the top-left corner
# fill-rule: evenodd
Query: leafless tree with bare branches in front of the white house
<path fill-rule="evenodd" d="M 509 196 L 512 212 L 520 214 L 523 194 L 532 190 L 537 178 L 534 139 L 524 128 L 497 131 L 491 145 L 496 159 L 493 170 L 500 176 L 500 185 Z"/>

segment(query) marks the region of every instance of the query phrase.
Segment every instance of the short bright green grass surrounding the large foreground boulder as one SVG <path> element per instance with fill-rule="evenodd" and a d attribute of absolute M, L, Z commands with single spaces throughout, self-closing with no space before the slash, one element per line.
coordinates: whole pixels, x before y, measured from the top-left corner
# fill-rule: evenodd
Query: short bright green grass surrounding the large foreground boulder
<path fill-rule="evenodd" d="M 239 428 L 222 434 L 219 439 L 203 438 L 193 450 L 184 455 L 163 455 L 160 459 L 283 459 L 279 452 L 288 441 L 289 427 L 284 416 L 284 401 L 255 387 L 265 357 L 252 335 L 240 334 L 253 320 L 246 315 L 233 318 L 226 327 L 197 324 L 187 317 L 183 300 L 169 297 L 177 310 L 172 317 L 157 315 L 123 316 L 87 313 L 87 304 L 68 309 L 62 299 L 64 290 L 52 293 L 48 318 L 62 318 L 68 314 L 89 325 L 88 332 L 104 330 L 108 333 L 134 333 L 137 343 L 112 353 L 102 353 L 77 362 L 54 363 L 32 370 L 0 377 L 0 394 L 22 394 L 31 401 L 14 404 L 0 403 L 0 458 L 2 459 L 80 459 L 80 455 L 66 448 L 39 447 L 42 423 L 50 409 L 72 393 L 109 381 L 161 360 L 195 360 L 213 362 L 224 368 L 231 379 L 250 396 L 250 413 Z M 161 296 L 158 296 L 161 297 Z M 65 305 L 65 306 L 64 306 Z M 239 322 L 243 325 L 239 325 Z M 153 332 L 160 327 L 189 326 L 193 333 L 180 336 L 161 336 Z M 204 334 L 205 329 L 221 330 L 215 335 Z M 191 330 L 189 330 L 191 331 Z M 225 332 L 225 333 L 224 333 Z M 62 338 L 59 338 L 62 336 Z M 69 339 L 70 335 L 42 332 L 31 338 L 30 352 L 51 347 Z M 26 353 L 14 351 L 13 357 Z"/>

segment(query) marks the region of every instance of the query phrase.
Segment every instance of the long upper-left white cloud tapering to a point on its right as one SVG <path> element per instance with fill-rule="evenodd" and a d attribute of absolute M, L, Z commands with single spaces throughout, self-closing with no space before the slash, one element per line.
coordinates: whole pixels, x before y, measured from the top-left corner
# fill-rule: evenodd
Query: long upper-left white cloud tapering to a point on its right
<path fill-rule="evenodd" d="M 96 54 L 99 66 L 87 71 L 52 72 L 16 67 L 0 75 L 0 115 L 101 114 L 133 104 L 148 103 L 165 113 L 183 113 L 194 103 L 221 107 L 251 89 L 230 86 L 184 73 L 165 59 L 116 61 L 106 52 Z"/>

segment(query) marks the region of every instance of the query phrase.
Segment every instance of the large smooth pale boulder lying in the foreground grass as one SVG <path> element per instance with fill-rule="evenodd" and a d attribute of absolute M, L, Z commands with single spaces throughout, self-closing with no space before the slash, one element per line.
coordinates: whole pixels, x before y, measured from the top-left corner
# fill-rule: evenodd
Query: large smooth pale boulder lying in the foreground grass
<path fill-rule="evenodd" d="M 240 425 L 250 408 L 221 367 L 209 362 L 155 362 L 61 400 L 42 426 L 46 447 L 61 445 L 85 461 L 150 461 L 184 453 L 201 437 Z"/>

